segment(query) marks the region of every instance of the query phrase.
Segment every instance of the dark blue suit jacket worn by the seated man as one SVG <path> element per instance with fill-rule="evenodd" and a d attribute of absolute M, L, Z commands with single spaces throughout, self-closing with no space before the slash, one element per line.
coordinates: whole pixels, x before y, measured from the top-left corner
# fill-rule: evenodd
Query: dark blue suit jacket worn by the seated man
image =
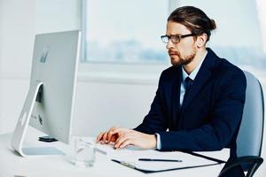
<path fill-rule="evenodd" d="M 207 56 L 192 87 L 179 104 L 182 68 L 171 66 L 160 75 L 151 110 L 137 131 L 160 135 L 161 150 L 231 149 L 236 157 L 236 137 L 246 93 L 244 73 L 207 49 Z M 168 131 L 166 131 L 168 129 Z"/>

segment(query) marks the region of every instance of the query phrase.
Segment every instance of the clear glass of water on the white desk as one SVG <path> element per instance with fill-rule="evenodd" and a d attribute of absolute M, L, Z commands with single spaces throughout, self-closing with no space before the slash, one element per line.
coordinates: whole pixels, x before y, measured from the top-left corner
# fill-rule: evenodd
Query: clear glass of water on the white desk
<path fill-rule="evenodd" d="M 74 139 L 74 165 L 81 167 L 93 166 L 95 162 L 95 145 L 80 137 Z"/>

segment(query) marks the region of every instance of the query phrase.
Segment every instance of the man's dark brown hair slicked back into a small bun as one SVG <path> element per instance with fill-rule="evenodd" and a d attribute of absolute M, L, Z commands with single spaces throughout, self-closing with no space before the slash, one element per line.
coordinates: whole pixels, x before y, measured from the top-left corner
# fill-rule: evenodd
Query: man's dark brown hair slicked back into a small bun
<path fill-rule="evenodd" d="M 194 35 L 207 35 L 207 41 L 211 31 L 216 28 L 215 20 L 209 19 L 205 12 L 193 6 L 177 8 L 168 17 L 168 21 L 180 23 L 192 31 Z"/>

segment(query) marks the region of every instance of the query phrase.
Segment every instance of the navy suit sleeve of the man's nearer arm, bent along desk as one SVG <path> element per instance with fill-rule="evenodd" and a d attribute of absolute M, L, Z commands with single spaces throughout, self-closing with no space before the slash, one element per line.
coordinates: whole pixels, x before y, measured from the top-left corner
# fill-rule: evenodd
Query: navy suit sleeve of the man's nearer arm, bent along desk
<path fill-rule="evenodd" d="M 238 133 L 246 95 L 243 72 L 226 74 L 220 81 L 212 117 L 201 127 L 160 132 L 160 150 L 222 150 Z"/>

